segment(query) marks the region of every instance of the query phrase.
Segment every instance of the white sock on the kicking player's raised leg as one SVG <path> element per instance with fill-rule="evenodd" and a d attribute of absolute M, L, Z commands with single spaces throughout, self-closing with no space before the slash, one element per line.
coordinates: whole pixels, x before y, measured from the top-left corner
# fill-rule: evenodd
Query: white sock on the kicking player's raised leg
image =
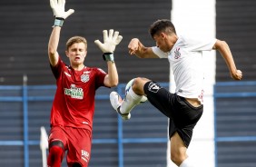
<path fill-rule="evenodd" d="M 143 95 L 138 95 L 133 92 L 133 87 L 126 94 L 123 103 L 120 107 L 121 113 L 129 113 L 135 105 L 141 102 Z"/>

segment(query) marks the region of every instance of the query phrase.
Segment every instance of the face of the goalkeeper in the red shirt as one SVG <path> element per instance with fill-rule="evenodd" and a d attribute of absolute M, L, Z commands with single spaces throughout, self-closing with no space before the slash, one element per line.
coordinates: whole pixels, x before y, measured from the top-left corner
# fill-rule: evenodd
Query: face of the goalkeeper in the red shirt
<path fill-rule="evenodd" d="M 69 58 L 70 64 L 80 65 L 84 64 L 84 58 L 87 54 L 87 50 L 84 43 L 74 43 L 65 52 Z"/>

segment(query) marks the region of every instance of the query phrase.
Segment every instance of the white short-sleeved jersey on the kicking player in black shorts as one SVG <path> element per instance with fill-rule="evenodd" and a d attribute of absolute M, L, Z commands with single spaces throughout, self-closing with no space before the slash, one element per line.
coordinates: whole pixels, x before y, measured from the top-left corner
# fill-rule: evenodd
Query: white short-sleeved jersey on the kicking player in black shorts
<path fill-rule="evenodd" d="M 203 97 L 203 58 L 202 51 L 211 51 L 217 39 L 196 40 L 179 36 L 169 53 L 163 53 L 154 46 L 153 53 L 167 58 L 171 64 L 176 84 L 175 93 L 185 98 Z"/>

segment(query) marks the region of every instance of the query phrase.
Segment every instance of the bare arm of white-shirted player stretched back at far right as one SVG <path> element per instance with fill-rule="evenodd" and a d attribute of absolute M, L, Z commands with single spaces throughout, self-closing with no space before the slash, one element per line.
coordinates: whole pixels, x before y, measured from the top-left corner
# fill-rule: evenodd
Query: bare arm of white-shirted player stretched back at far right
<path fill-rule="evenodd" d="M 217 40 L 213 45 L 213 49 L 218 50 L 220 54 L 222 54 L 222 57 L 229 67 L 231 78 L 234 80 L 241 80 L 242 73 L 236 68 L 229 45 L 225 41 Z"/>

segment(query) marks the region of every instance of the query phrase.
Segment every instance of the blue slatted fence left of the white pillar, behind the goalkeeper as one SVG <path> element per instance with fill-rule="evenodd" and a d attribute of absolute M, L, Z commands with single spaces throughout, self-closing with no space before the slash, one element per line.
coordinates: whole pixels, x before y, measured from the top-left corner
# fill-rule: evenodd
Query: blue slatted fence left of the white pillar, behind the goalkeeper
<path fill-rule="evenodd" d="M 123 86 L 115 90 L 123 94 Z M 167 118 L 144 103 L 123 122 L 109 102 L 111 91 L 96 94 L 90 166 L 166 166 Z M 54 85 L 0 86 L 0 166 L 42 166 L 40 127 L 50 130 L 54 92 Z"/>

